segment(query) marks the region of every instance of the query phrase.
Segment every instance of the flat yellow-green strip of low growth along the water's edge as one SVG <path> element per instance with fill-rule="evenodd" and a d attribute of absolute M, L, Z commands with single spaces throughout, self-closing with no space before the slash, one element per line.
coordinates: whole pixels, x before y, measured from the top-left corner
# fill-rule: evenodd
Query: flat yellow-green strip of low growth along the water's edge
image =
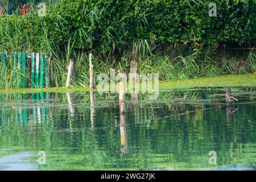
<path fill-rule="evenodd" d="M 213 88 L 234 86 L 256 87 L 256 73 L 245 75 L 228 75 L 220 77 L 203 77 L 189 80 L 171 80 L 159 81 L 159 91 L 167 91 L 172 89 L 190 89 L 190 88 Z M 25 89 L 0 89 L 0 94 L 5 93 L 38 93 L 38 92 L 55 92 L 55 93 L 72 93 L 72 92 L 89 92 L 89 86 L 86 87 L 52 87 L 52 88 L 25 88 Z M 97 87 L 94 89 L 97 92 Z"/>

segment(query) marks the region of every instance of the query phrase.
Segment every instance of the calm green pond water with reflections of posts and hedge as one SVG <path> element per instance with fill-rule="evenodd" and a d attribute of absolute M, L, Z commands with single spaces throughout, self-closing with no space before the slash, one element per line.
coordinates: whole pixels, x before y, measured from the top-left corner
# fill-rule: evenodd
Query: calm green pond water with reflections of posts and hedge
<path fill-rule="evenodd" d="M 128 95 L 124 114 L 118 94 L 2 94 L 0 170 L 254 170 L 256 88 L 225 90 Z"/>

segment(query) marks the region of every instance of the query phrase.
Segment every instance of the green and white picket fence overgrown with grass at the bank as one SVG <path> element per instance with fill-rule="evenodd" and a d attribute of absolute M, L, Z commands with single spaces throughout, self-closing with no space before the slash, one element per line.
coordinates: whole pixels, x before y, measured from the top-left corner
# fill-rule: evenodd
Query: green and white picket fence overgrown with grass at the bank
<path fill-rule="evenodd" d="M 0 52 L 3 69 L 12 69 L 14 88 L 48 88 L 49 87 L 49 61 L 46 53 Z M 9 64 L 13 61 L 13 64 Z M 27 84 L 29 80 L 30 84 Z M 1 86 L 1 85 L 0 85 Z"/>

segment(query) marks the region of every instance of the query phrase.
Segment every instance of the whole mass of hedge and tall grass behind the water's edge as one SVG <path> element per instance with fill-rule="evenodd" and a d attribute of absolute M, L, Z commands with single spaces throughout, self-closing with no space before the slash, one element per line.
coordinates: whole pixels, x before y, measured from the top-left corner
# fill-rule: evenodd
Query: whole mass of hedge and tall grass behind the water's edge
<path fill-rule="evenodd" d="M 39 2 L 46 16 L 38 15 Z M 217 17 L 208 15 L 207 0 L 22 3 L 32 13 L 19 15 L 23 5 L 16 3 L 11 14 L 0 15 L 0 52 L 49 53 L 51 87 L 65 86 L 70 59 L 71 86 L 88 86 L 89 53 L 96 76 L 110 69 L 129 73 L 131 61 L 138 62 L 139 74 L 158 73 L 160 81 L 256 72 L 254 0 L 218 1 Z M 0 61 L 1 88 L 14 87 L 14 67 L 13 59 L 7 69 Z"/>

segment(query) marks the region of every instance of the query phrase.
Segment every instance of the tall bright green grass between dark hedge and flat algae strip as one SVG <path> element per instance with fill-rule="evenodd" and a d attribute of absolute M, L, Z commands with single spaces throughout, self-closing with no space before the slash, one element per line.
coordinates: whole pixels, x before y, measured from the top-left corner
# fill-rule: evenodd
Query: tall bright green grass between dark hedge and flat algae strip
<path fill-rule="evenodd" d="M 188 80 L 199 77 L 217 77 L 224 75 L 237 75 L 256 72 L 255 51 L 207 51 L 201 49 L 172 49 L 167 47 L 165 51 L 158 47 L 152 47 L 146 41 L 133 45 L 133 49 L 123 52 L 121 56 L 102 55 L 93 53 L 94 75 L 100 73 L 110 74 L 110 69 L 117 73 L 118 69 L 130 72 L 130 62 L 138 62 L 138 73 L 158 73 L 160 81 Z M 89 85 L 89 53 L 77 53 L 71 51 L 75 60 L 75 80 L 71 82 L 73 87 L 86 87 Z M 68 58 L 66 53 L 53 56 L 51 87 L 63 87 L 67 80 Z M 27 65 L 30 67 L 30 65 Z M 13 88 L 13 59 L 9 59 L 7 68 L 0 63 L 0 88 Z M 31 75 L 26 78 L 30 82 Z M 96 80 L 97 84 L 98 81 Z M 30 85 L 27 85 L 30 87 Z"/>

